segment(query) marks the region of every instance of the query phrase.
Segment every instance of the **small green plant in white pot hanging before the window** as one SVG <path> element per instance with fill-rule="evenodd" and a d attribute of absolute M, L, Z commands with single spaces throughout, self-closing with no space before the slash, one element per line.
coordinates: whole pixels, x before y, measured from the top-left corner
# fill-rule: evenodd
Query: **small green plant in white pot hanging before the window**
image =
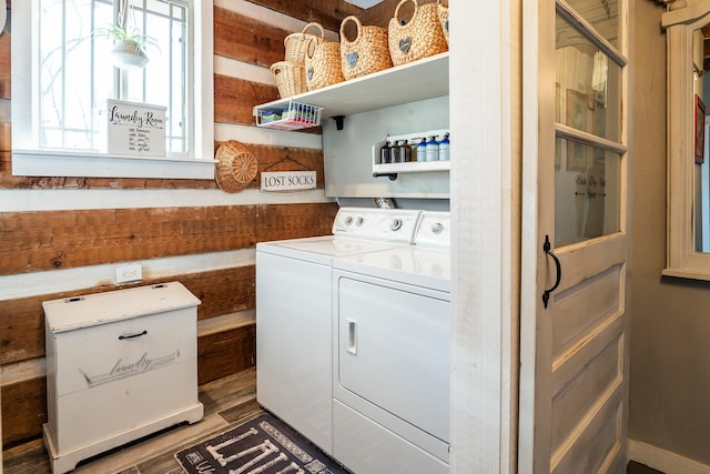
<path fill-rule="evenodd" d="M 148 47 L 159 48 L 158 41 L 146 34 L 141 34 L 135 26 L 129 27 L 129 11 L 133 12 L 132 0 L 120 0 L 115 23 L 108 28 L 94 30 L 94 36 L 113 40 L 113 62 L 120 69 L 141 69 L 148 64 L 145 53 Z M 135 18 L 131 14 L 133 23 Z"/>

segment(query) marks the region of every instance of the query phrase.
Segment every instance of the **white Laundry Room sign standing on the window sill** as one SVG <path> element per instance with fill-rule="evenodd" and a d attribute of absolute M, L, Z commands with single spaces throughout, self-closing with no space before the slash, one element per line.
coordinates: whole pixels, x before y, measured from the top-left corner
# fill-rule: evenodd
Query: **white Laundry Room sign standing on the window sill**
<path fill-rule="evenodd" d="M 106 99 L 109 154 L 165 155 L 165 108 Z"/>

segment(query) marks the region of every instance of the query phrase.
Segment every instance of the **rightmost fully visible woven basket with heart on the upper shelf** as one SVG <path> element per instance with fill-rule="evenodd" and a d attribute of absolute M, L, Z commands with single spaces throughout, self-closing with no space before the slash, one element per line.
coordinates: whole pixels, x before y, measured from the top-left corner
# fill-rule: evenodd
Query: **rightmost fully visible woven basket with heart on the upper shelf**
<path fill-rule="evenodd" d="M 414 14 L 409 22 L 400 24 L 399 8 L 414 2 Z M 389 20 L 389 54 L 394 65 L 447 51 L 448 46 L 439 21 L 437 3 L 419 6 L 417 0 L 400 0 L 395 17 Z"/>

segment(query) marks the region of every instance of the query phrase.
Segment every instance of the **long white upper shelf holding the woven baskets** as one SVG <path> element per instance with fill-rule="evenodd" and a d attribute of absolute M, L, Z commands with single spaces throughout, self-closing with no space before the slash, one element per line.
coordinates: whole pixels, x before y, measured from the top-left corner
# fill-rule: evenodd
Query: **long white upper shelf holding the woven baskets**
<path fill-rule="evenodd" d="M 448 52 L 349 81 L 254 107 L 286 109 L 290 101 L 323 108 L 325 117 L 351 115 L 448 94 Z"/>

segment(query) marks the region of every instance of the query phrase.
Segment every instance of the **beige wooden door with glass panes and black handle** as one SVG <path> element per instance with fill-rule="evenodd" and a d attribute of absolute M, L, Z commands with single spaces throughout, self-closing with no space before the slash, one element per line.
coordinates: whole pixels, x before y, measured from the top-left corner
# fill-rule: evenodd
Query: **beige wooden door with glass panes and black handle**
<path fill-rule="evenodd" d="M 623 472 L 627 1 L 523 8 L 523 234 L 535 238 L 521 278 L 536 283 L 521 293 L 518 467 Z"/>

